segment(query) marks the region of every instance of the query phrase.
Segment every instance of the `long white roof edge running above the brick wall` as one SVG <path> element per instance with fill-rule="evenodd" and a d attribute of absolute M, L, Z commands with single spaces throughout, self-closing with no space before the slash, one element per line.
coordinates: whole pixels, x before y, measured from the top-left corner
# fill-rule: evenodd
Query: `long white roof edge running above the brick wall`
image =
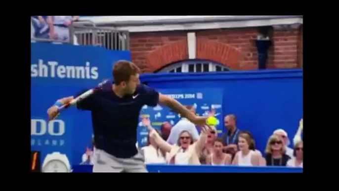
<path fill-rule="evenodd" d="M 298 24 L 302 24 L 302 18 L 260 19 L 245 21 L 223 21 L 223 22 L 183 23 L 183 24 L 165 24 L 165 25 L 158 24 L 144 26 L 121 26 L 121 27 L 112 27 L 112 29 L 136 33 L 136 32 L 157 32 L 157 31 L 177 31 L 177 30 L 246 28 L 246 27 L 298 25 Z"/>

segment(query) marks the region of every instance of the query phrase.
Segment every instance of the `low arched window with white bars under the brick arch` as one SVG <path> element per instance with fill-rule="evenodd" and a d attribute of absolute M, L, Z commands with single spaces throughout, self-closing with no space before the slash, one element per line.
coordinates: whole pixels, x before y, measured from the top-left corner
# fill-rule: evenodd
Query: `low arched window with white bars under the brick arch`
<path fill-rule="evenodd" d="M 158 72 L 222 72 L 231 69 L 221 63 L 205 59 L 189 59 L 171 63 Z"/>

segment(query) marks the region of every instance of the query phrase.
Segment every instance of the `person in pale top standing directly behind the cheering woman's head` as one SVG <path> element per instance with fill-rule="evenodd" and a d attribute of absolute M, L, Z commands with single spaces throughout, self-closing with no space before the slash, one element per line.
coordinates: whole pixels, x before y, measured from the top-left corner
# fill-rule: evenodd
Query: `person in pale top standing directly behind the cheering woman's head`
<path fill-rule="evenodd" d="M 187 109 L 192 111 L 195 114 L 195 109 L 193 106 L 187 105 Z M 179 140 L 179 135 L 182 131 L 188 131 L 192 135 L 192 141 L 195 142 L 199 139 L 199 133 L 194 123 L 190 122 L 188 119 L 182 117 L 180 121 L 175 124 L 170 130 L 169 138 L 167 143 L 175 144 Z"/>

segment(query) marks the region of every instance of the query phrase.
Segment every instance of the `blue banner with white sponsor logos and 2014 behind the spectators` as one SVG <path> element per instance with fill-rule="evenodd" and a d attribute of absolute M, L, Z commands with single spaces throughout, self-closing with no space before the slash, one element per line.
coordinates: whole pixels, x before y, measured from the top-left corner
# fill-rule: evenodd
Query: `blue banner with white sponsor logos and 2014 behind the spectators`
<path fill-rule="evenodd" d="M 160 93 L 170 96 L 178 100 L 183 105 L 192 105 L 196 108 L 197 115 L 206 116 L 211 109 L 215 109 L 215 117 L 218 119 L 216 129 L 219 135 L 223 130 L 222 124 L 222 89 L 157 89 Z M 211 94 L 212 93 L 212 94 Z M 151 120 L 151 125 L 154 128 L 160 129 L 164 122 L 169 122 L 174 126 L 179 120 L 180 115 L 172 112 L 166 106 L 157 105 L 149 107 L 144 105 L 141 116 L 148 116 Z M 197 128 L 200 132 L 200 128 Z M 138 124 L 138 145 L 146 146 L 148 130 L 142 125 L 141 118 Z"/>

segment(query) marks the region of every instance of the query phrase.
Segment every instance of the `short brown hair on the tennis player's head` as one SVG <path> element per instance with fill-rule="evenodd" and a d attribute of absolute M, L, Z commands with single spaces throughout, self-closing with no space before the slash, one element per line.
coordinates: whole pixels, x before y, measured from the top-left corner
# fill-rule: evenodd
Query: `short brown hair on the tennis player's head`
<path fill-rule="evenodd" d="M 128 82 L 130 76 L 138 74 L 140 69 L 132 62 L 120 60 L 113 66 L 114 83 Z"/>

